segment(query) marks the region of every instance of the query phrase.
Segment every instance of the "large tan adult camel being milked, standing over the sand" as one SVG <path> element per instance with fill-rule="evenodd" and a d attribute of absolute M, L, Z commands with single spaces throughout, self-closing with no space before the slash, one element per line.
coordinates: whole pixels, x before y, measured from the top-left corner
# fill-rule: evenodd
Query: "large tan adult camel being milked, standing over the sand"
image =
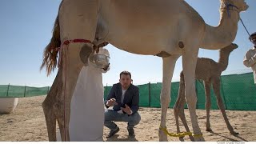
<path fill-rule="evenodd" d="M 70 98 L 84 65 L 79 57 L 83 47 L 91 49 L 109 42 L 118 49 L 133 54 L 156 55 L 162 58 L 161 122 L 159 141 L 167 141 L 166 111 L 170 103 L 170 85 L 177 59 L 182 56 L 186 83 L 185 95 L 190 110 L 194 134 L 201 135 L 196 117 L 194 73 L 199 47 L 216 50 L 234 41 L 238 30 L 239 13 L 247 10 L 244 0 L 221 0 L 221 20 L 218 26 L 207 25 L 203 18 L 183 0 L 63 0 L 59 6 L 52 41 L 45 50 L 42 66 L 47 73 L 57 61 L 53 47 L 61 46 L 60 68 L 63 85 L 59 92 L 65 106 L 62 113 L 62 138 L 69 141 L 66 127 L 70 116 Z M 191 37 L 193 34 L 193 37 Z M 144 41 L 143 41 L 144 40 Z M 61 44 L 61 45 L 60 45 Z M 57 78 L 57 77 L 56 77 Z M 55 78 L 55 80 L 56 80 Z M 50 105 L 48 105 L 50 107 Z M 47 113 L 47 105 L 44 106 Z M 62 115 L 59 114 L 59 115 Z M 46 120 L 46 124 L 47 124 Z M 51 134 L 51 133 L 50 133 Z M 202 136 L 196 141 L 204 141 Z"/>

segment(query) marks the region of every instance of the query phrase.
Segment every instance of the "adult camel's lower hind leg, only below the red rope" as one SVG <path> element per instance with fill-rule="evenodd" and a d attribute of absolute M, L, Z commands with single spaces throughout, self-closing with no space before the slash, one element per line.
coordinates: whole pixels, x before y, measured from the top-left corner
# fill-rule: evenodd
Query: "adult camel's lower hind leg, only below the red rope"
<path fill-rule="evenodd" d="M 71 43 L 69 47 L 62 47 L 62 70 L 59 70 L 61 73 L 59 83 L 62 83 L 62 86 L 58 86 L 58 99 L 57 102 L 54 103 L 54 111 L 58 120 L 62 142 L 70 141 L 70 102 L 78 80 L 78 75 L 82 66 L 84 66 L 84 63 L 81 61 L 82 58 L 79 57 L 81 50 L 84 49 L 90 49 L 89 51 L 91 51 L 92 47 L 86 44 L 82 46 L 81 43 Z"/>

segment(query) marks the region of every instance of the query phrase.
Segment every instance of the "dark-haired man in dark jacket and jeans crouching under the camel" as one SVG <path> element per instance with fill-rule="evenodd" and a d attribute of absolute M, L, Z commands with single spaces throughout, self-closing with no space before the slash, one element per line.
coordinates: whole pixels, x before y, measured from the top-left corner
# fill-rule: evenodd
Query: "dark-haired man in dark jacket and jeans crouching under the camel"
<path fill-rule="evenodd" d="M 106 98 L 106 108 L 114 106 L 113 110 L 105 111 L 104 126 L 110 129 L 106 138 L 118 133 L 119 127 L 114 122 L 127 122 L 129 137 L 135 137 L 134 126 L 138 125 L 141 116 L 138 114 L 138 87 L 131 82 L 130 72 L 122 71 L 119 82 L 112 86 Z"/>

